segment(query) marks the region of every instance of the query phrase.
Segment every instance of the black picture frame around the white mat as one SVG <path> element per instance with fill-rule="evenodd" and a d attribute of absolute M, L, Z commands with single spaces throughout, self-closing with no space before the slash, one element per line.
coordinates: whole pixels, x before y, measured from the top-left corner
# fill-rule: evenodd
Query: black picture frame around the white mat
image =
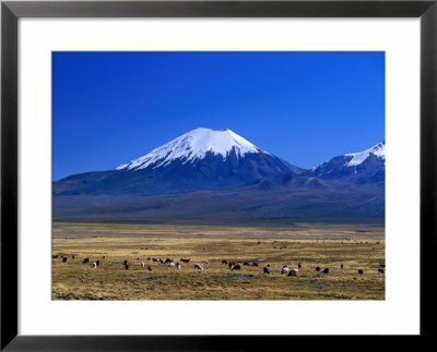
<path fill-rule="evenodd" d="M 436 256 L 437 0 L 2 1 L 1 2 L 1 350 L 209 351 L 277 348 L 288 337 L 19 336 L 17 21 L 21 17 L 420 17 L 421 21 L 421 337 L 436 308 L 429 286 Z M 408 258 L 405 258 L 405 265 Z M 60 317 L 61 318 L 61 317 Z M 68 317 L 67 317 L 68 318 Z M 304 337 L 302 337 L 304 338 Z M 263 341 L 264 342 L 264 341 Z M 285 344 L 286 345 L 286 344 Z"/>

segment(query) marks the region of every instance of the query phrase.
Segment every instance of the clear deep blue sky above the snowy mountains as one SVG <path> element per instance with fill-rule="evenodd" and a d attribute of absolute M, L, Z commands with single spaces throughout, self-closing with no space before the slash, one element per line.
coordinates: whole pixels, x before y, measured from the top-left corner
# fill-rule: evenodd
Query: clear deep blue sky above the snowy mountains
<path fill-rule="evenodd" d="M 385 139 L 383 52 L 54 52 L 54 180 L 196 128 L 302 168 Z"/>

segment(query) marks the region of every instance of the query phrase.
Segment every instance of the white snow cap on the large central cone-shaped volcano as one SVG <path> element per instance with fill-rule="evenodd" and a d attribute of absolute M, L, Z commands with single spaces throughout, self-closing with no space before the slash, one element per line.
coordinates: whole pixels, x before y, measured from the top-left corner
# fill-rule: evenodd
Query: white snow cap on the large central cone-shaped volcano
<path fill-rule="evenodd" d="M 231 130 L 213 131 L 199 128 L 153 149 L 151 153 L 120 165 L 116 170 L 142 170 L 152 166 L 167 166 L 178 159 L 182 163 L 203 159 L 208 153 L 226 159 L 231 154 L 237 158 L 250 153 L 265 153 Z M 270 155 L 270 154 L 269 154 Z"/>

